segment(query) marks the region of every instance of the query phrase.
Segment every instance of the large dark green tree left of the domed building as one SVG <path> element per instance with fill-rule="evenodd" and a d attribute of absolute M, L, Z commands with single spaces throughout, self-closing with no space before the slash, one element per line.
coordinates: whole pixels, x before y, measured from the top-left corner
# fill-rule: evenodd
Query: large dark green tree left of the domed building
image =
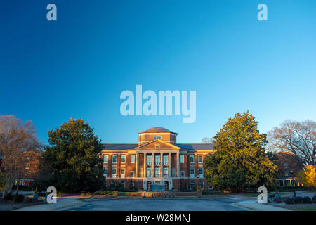
<path fill-rule="evenodd" d="M 99 157 L 102 146 L 88 123 L 70 119 L 49 131 L 48 136 L 40 165 L 41 181 L 37 184 L 42 188 L 44 185 L 44 189 L 55 186 L 63 193 L 93 192 L 102 187 L 103 165 Z"/>

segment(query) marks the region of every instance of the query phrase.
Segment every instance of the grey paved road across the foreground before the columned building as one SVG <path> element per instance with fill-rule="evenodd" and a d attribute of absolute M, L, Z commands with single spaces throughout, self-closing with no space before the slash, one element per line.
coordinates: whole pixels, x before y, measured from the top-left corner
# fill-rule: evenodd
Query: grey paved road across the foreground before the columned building
<path fill-rule="evenodd" d="M 100 198 L 80 200 L 86 205 L 67 211 L 244 211 L 231 205 L 234 198 L 152 199 L 152 198 Z"/>

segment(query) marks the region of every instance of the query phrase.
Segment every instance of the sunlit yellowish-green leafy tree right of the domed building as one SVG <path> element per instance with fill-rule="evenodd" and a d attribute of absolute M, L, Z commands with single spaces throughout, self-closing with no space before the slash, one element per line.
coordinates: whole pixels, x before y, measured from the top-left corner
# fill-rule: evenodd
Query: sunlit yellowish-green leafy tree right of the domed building
<path fill-rule="evenodd" d="M 277 166 L 265 153 L 266 135 L 257 124 L 249 111 L 236 113 L 214 136 L 215 153 L 204 164 L 209 185 L 233 192 L 275 186 Z"/>

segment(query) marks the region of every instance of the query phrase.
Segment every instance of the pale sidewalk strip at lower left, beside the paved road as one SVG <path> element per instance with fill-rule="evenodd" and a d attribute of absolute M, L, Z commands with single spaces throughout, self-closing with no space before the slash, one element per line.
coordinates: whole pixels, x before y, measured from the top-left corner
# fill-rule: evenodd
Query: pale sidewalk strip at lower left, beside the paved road
<path fill-rule="evenodd" d="M 23 207 L 15 211 L 60 211 L 67 210 L 67 208 L 77 207 L 81 205 L 86 205 L 76 198 L 57 198 L 57 203 L 34 205 Z"/>

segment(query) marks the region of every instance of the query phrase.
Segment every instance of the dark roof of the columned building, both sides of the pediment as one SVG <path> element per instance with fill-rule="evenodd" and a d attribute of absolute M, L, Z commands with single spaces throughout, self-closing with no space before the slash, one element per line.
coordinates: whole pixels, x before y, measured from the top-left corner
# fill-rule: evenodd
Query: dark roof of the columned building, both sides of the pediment
<path fill-rule="evenodd" d="M 213 143 L 177 143 L 183 150 L 213 150 Z M 104 143 L 105 150 L 127 150 L 138 147 L 137 143 Z"/>

